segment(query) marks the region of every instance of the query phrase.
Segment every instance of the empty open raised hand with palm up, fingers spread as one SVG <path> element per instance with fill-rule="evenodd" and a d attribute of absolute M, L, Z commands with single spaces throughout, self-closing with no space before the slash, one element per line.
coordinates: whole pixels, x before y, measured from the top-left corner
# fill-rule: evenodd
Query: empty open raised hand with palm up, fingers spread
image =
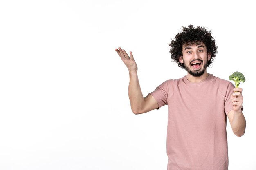
<path fill-rule="evenodd" d="M 124 49 L 121 49 L 120 47 L 118 49 L 115 49 L 117 51 L 117 54 L 121 58 L 121 60 L 124 62 L 126 67 L 128 68 L 129 72 L 137 71 L 138 66 L 133 58 L 132 52 L 130 51 L 130 57 L 126 53 Z"/>

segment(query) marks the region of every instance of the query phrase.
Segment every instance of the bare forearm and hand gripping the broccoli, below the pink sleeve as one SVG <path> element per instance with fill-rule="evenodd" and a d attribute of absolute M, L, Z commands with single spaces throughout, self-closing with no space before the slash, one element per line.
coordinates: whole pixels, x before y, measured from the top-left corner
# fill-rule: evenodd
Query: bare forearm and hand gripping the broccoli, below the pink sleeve
<path fill-rule="evenodd" d="M 243 95 L 242 88 L 234 88 L 234 93 L 231 95 L 231 103 L 233 110 L 227 113 L 231 128 L 234 134 L 238 137 L 245 133 L 246 121 L 242 113 Z"/>

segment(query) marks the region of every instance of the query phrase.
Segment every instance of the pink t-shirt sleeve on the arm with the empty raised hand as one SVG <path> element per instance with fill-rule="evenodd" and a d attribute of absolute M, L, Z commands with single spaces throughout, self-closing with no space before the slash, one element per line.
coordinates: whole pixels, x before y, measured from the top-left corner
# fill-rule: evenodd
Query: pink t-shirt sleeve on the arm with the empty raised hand
<path fill-rule="evenodd" d="M 149 93 L 152 95 L 155 100 L 157 101 L 157 104 L 159 105 L 159 108 L 168 105 L 167 103 L 167 94 L 168 94 L 168 85 L 170 84 L 170 81 L 163 82 L 161 85 L 159 85 L 155 91 Z M 157 109 L 159 109 L 157 108 Z"/>

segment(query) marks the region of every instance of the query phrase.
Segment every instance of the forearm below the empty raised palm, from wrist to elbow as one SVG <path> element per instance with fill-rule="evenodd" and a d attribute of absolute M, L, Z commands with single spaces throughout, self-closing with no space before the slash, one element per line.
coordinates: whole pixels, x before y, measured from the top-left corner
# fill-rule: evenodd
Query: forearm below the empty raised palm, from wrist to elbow
<path fill-rule="evenodd" d="M 130 104 L 132 108 L 132 112 L 138 114 L 141 112 L 144 106 L 144 97 L 141 92 L 141 88 L 139 85 L 139 78 L 137 75 L 137 71 L 129 71 L 130 82 L 128 87 L 128 94 L 130 99 Z"/>

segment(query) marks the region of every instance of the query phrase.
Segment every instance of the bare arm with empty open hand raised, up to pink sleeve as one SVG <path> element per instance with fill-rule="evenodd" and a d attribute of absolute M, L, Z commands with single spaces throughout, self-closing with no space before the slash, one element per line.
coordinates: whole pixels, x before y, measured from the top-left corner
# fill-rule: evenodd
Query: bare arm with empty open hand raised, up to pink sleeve
<path fill-rule="evenodd" d="M 132 52 L 130 52 L 129 57 L 126 51 L 124 49 L 121 49 L 120 47 L 118 49 L 115 49 L 115 51 L 118 53 L 121 60 L 124 62 L 129 71 L 130 82 L 128 86 L 128 94 L 132 112 L 134 114 L 141 114 L 158 108 L 159 106 L 157 104 L 157 101 L 152 95 L 148 95 L 145 98 L 142 95 L 139 85 L 139 78 L 137 75 L 138 67 L 133 58 Z"/>

